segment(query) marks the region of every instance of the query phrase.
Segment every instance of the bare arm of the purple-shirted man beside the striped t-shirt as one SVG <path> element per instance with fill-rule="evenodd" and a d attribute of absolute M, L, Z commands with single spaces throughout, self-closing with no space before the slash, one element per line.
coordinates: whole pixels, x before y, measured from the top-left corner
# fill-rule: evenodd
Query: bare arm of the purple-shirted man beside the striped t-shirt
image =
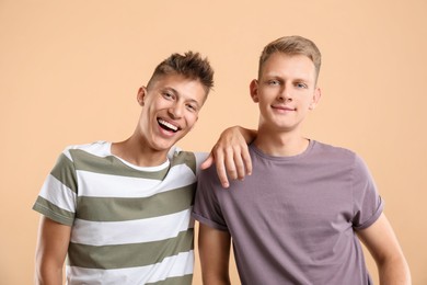
<path fill-rule="evenodd" d="M 230 233 L 199 223 L 198 249 L 204 285 L 229 285 Z"/>

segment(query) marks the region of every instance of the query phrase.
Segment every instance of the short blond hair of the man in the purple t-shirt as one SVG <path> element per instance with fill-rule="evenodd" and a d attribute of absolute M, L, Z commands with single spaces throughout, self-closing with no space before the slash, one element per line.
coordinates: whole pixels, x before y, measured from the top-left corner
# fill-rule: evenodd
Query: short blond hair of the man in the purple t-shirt
<path fill-rule="evenodd" d="M 262 69 L 265 61 L 267 61 L 267 59 L 274 53 L 307 56 L 314 64 L 315 80 L 318 80 L 320 68 L 322 65 L 322 55 L 318 46 L 312 41 L 302 36 L 293 35 L 293 36 L 279 37 L 276 41 L 273 41 L 272 43 L 266 45 L 259 57 L 258 78 L 261 78 Z"/>

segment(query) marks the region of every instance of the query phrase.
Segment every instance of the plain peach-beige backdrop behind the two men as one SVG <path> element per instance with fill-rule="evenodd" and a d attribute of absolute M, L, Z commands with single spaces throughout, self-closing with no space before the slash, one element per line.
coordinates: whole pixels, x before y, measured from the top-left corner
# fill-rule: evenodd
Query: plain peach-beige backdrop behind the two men
<path fill-rule="evenodd" d="M 188 49 L 210 58 L 215 92 L 180 144 L 210 150 L 224 127 L 256 127 L 247 86 L 258 55 L 292 34 L 323 54 L 307 136 L 368 162 L 414 284 L 427 284 L 426 12 L 425 0 L 0 0 L 0 284 L 33 281 L 31 207 L 59 152 L 128 137 L 136 92 L 160 60 Z"/>

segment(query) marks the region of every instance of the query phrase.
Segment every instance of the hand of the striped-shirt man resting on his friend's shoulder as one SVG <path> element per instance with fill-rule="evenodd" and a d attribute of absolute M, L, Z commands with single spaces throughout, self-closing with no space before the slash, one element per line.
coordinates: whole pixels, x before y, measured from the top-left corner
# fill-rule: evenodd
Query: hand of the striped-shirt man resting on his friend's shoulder
<path fill-rule="evenodd" d="M 215 162 L 223 187 L 229 186 L 227 174 L 232 180 L 243 180 L 245 175 L 251 175 L 252 162 L 247 144 L 254 140 L 256 135 L 256 130 L 240 126 L 224 129 L 201 169 L 207 169 Z"/>

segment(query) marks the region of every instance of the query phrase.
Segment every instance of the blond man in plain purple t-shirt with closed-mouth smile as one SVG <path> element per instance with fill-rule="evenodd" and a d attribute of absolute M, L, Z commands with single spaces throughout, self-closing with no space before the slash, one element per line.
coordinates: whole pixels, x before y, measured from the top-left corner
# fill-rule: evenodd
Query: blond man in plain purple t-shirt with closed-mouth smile
<path fill-rule="evenodd" d="M 212 167 L 198 180 L 193 216 L 205 285 L 230 283 L 231 239 L 242 284 L 372 284 L 360 241 L 381 284 L 411 284 L 362 159 L 302 135 L 321 98 L 320 66 L 318 47 L 300 36 L 264 48 L 250 86 L 259 107 L 252 175 L 228 191 Z"/>

